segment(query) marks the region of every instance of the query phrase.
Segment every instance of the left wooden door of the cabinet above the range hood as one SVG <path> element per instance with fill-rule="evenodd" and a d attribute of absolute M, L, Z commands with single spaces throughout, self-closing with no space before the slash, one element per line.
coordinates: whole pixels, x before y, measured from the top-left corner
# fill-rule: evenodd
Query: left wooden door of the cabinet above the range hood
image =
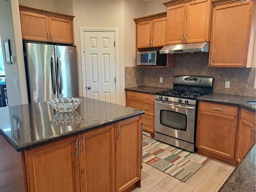
<path fill-rule="evenodd" d="M 186 4 L 167 8 L 166 45 L 184 43 Z"/>

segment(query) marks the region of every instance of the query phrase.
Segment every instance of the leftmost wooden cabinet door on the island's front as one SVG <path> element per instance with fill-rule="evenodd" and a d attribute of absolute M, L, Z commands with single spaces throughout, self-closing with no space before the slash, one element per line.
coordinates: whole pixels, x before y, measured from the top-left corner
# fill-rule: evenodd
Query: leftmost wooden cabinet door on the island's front
<path fill-rule="evenodd" d="M 77 137 L 25 151 L 28 190 L 30 192 L 79 191 L 77 152 Z"/>

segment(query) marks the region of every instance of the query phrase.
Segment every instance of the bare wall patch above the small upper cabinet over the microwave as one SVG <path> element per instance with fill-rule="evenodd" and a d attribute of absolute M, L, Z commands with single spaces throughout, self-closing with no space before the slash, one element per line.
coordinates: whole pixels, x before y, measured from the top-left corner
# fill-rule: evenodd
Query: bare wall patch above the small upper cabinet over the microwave
<path fill-rule="evenodd" d="M 166 7 L 162 4 L 165 0 L 151 0 L 145 2 L 145 15 L 165 12 Z"/>

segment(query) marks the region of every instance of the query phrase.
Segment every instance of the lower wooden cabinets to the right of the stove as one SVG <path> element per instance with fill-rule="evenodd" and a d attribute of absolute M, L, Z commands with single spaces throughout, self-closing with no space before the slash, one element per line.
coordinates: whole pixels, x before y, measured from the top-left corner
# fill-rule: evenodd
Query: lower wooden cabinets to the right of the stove
<path fill-rule="evenodd" d="M 198 153 L 237 165 L 255 143 L 255 113 L 237 106 L 199 102 Z"/>

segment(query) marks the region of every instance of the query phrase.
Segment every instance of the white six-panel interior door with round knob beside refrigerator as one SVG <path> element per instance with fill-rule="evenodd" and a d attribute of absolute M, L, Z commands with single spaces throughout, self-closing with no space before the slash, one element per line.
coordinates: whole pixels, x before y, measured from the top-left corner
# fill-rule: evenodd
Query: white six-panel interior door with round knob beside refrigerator
<path fill-rule="evenodd" d="M 115 32 L 84 31 L 87 97 L 116 103 Z"/>

